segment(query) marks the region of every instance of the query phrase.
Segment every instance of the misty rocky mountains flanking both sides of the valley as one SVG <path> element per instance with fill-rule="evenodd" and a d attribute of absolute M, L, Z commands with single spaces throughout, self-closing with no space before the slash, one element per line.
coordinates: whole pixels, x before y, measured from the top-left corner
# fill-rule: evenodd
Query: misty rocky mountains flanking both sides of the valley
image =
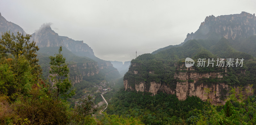
<path fill-rule="evenodd" d="M 165 92 L 175 94 L 179 100 L 197 96 L 202 100 L 211 98 L 212 104 L 224 104 L 231 87 L 238 89 L 242 85 L 246 89 L 256 88 L 255 28 L 255 14 L 211 15 L 179 45 L 142 54 L 124 64 L 97 58 L 86 43 L 59 36 L 50 26 L 41 27 L 32 34 L 31 40 L 36 41 L 40 48 L 37 54 L 45 78 L 49 76 L 49 56 L 57 53 L 59 46 L 62 46 L 74 84 L 95 79 L 111 80 L 124 75 L 124 89 L 127 91 L 150 92 L 152 95 Z M 26 33 L 2 17 L 1 13 L 0 31 Z M 188 57 L 195 60 L 194 66 L 185 66 Z M 218 67 L 216 60 L 220 58 L 225 59 L 225 63 L 229 58 L 244 59 L 244 64 L 242 67 Z M 214 66 L 197 66 L 198 59 L 215 59 Z M 208 95 L 205 89 L 210 90 Z"/>

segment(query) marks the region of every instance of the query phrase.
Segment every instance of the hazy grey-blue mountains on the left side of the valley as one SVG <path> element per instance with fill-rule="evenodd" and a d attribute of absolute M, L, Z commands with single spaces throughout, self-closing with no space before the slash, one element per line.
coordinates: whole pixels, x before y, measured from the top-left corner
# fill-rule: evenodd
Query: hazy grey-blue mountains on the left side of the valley
<path fill-rule="evenodd" d="M 42 25 L 43 26 L 43 25 Z M 0 13 L 0 31 L 16 34 L 26 32 L 18 25 L 7 21 Z M 43 69 L 43 76 L 49 76 L 49 56 L 58 53 L 62 46 L 62 53 L 70 68 L 70 78 L 73 83 L 98 80 L 111 80 L 120 77 L 119 72 L 110 61 L 97 58 L 91 47 L 83 41 L 76 41 L 66 36 L 59 36 L 50 26 L 40 27 L 30 38 L 40 48 L 37 52 L 39 65 Z"/>

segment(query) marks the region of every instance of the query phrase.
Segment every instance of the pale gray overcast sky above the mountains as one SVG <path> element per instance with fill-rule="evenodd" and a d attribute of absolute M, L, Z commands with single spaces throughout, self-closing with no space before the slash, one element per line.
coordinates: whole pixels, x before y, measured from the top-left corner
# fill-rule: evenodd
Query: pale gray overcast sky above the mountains
<path fill-rule="evenodd" d="M 8 21 L 32 34 L 44 23 L 83 40 L 95 56 L 129 61 L 183 42 L 206 16 L 256 13 L 255 0 L 0 0 Z"/>

